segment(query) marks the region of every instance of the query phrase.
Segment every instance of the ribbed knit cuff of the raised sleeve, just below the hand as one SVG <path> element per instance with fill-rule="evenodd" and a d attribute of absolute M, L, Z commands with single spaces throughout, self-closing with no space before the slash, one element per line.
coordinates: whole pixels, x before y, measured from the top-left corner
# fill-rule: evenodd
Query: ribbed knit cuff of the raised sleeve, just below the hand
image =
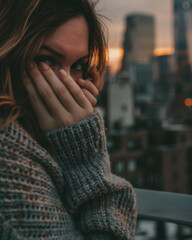
<path fill-rule="evenodd" d="M 69 169 L 106 151 L 104 121 L 99 108 L 85 120 L 45 133 L 57 160 Z"/>

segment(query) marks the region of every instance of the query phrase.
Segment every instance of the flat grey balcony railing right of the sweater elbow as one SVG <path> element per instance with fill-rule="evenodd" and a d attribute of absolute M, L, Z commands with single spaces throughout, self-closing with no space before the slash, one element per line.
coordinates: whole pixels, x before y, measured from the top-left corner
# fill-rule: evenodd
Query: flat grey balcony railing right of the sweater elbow
<path fill-rule="evenodd" d="M 192 195 L 135 188 L 138 217 L 192 226 Z"/>

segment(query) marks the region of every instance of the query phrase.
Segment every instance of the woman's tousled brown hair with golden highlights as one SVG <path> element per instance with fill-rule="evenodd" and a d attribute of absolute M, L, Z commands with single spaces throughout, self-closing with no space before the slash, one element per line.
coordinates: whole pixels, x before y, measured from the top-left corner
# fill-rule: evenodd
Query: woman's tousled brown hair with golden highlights
<path fill-rule="evenodd" d="M 0 129 L 18 119 L 38 138 L 34 110 L 20 79 L 20 73 L 56 27 L 82 15 L 89 27 L 90 59 L 97 59 L 101 74 L 106 61 L 106 41 L 96 2 L 89 0 L 1 0 L 0 1 Z M 103 82 L 101 81 L 101 85 Z"/>

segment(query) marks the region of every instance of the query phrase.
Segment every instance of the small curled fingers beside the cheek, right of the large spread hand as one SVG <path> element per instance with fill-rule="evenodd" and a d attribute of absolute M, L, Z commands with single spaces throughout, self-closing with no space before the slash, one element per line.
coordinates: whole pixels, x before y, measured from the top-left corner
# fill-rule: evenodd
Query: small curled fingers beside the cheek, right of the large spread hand
<path fill-rule="evenodd" d="M 77 83 L 81 87 L 83 93 L 94 107 L 97 104 L 96 97 L 99 94 L 99 73 L 95 66 L 91 68 L 91 79 L 83 80 L 78 79 Z"/>

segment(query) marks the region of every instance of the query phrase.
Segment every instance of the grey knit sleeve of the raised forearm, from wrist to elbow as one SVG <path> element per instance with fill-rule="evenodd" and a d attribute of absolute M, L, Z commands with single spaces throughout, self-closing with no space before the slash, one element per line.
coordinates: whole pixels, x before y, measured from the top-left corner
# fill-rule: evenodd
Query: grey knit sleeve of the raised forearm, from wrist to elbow
<path fill-rule="evenodd" d="M 99 109 L 45 134 L 64 178 L 63 201 L 87 239 L 133 239 L 137 207 L 129 182 L 111 173 Z"/>

